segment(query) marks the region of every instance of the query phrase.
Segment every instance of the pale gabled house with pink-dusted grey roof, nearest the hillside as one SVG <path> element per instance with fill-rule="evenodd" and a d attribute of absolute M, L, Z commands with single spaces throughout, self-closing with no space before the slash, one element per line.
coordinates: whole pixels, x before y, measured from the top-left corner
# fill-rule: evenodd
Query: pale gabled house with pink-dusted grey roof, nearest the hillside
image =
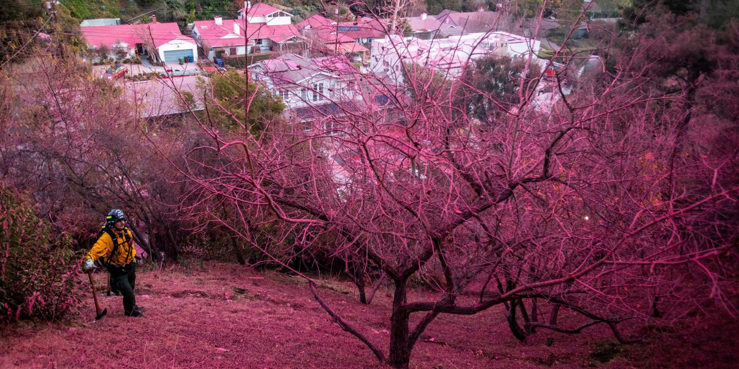
<path fill-rule="evenodd" d="M 342 56 L 305 58 L 288 53 L 249 68 L 254 80 L 303 121 L 361 100 L 358 70 Z"/>

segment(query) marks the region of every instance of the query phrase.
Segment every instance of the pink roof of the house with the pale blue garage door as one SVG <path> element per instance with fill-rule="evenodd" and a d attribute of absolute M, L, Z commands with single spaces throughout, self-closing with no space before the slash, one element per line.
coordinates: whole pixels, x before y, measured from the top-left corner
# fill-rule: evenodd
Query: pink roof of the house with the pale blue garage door
<path fill-rule="evenodd" d="M 172 40 L 184 40 L 195 43 L 192 38 L 180 33 L 177 23 L 118 24 L 115 26 L 80 27 L 87 44 L 95 47 L 101 45 L 112 47 L 119 41 L 129 45 L 143 44 L 153 41 L 155 47 L 162 46 Z"/>

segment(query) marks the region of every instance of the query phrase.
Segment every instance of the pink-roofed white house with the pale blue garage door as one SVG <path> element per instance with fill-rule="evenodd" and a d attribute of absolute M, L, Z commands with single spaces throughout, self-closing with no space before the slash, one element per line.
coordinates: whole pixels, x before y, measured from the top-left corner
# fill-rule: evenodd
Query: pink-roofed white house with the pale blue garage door
<path fill-rule="evenodd" d="M 115 60 L 151 55 L 165 63 L 177 63 L 183 57 L 197 61 L 195 41 L 183 35 L 177 23 L 157 23 L 156 15 L 151 15 L 149 24 L 91 26 L 80 30 L 89 47 L 106 46 Z"/>

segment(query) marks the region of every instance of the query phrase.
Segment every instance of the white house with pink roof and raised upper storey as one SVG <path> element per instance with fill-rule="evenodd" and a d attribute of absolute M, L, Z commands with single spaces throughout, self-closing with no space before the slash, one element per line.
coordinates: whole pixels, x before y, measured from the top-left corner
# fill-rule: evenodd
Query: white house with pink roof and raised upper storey
<path fill-rule="evenodd" d="M 290 23 L 292 16 L 268 4 L 252 7 L 250 1 L 245 1 L 239 19 L 215 16 L 212 20 L 195 21 L 192 35 L 211 60 L 217 52 L 228 56 L 268 53 L 300 41 L 300 33 Z"/>

